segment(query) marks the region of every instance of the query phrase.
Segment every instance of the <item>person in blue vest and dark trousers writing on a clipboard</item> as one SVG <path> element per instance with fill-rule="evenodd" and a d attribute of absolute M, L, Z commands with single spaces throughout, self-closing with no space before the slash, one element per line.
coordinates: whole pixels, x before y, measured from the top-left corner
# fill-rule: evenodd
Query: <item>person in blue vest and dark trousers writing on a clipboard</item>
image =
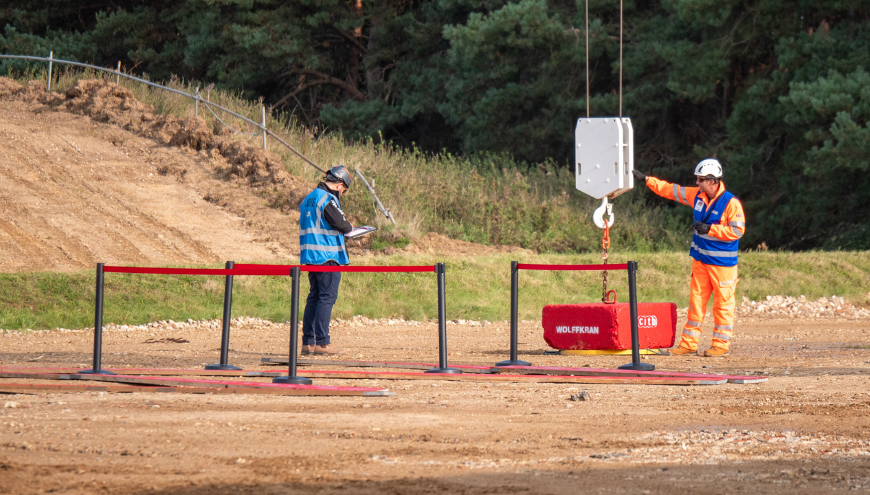
<path fill-rule="evenodd" d="M 299 205 L 299 254 L 303 265 L 350 264 L 344 234 L 353 230 L 341 209 L 341 196 L 350 188 L 351 175 L 337 165 Z M 332 346 L 329 321 L 338 300 L 339 272 L 308 272 L 311 290 L 302 316 L 302 354 L 344 354 Z"/>

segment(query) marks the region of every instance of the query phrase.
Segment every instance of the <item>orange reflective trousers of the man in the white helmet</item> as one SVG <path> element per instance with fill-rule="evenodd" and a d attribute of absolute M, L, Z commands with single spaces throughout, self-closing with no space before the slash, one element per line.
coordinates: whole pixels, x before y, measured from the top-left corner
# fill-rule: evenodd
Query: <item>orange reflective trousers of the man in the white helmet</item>
<path fill-rule="evenodd" d="M 707 312 L 707 301 L 713 295 L 713 347 L 728 349 L 734 333 L 734 308 L 737 306 L 737 267 L 705 265 L 692 260 L 689 314 L 680 346 L 698 350 L 701 323 Z"/>

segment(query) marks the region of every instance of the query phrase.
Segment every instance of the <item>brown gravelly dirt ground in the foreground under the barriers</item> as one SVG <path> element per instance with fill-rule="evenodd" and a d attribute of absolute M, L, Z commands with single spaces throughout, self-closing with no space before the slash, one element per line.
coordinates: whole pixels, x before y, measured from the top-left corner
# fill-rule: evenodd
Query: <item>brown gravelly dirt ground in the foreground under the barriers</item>
<path fill-rule="evenodd" d="M 233 320 L 230 363 L 276 369 L 260 358 L 286 355 L 288 331 Z M 508 331 L 505 321 L 451 322 L 450 363 L 505 359 Z M 870 491 L 868 332 L 860 316 L 759 310 L 739 318 L 726 357 L 646 357 L 659 370 L 769 377 L 754 385 L 316 380 L 396 394 L 7 395 L 0 493 Z M 348 357 L 437 360 L 431 321 L 356 317 L 332 334 Z M 5 333 L 0 364 L 88 366 L 91 339 L 87 329 Z M 217 361 L 219 343 L 216 320 L 110 325 L 103 363 L 199 368 Z M 540 322 L 520 325 L 520 343 L 538 365 L 627 360 L 544 355 Z"/>

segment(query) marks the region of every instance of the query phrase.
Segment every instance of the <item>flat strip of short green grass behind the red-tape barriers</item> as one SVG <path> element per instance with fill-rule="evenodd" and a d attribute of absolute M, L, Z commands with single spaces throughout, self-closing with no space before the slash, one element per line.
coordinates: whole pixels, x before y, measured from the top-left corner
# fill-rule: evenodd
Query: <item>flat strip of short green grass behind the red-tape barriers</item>
<path fill-rule="evenodd" d="M 506 320 L 510 304 L 510 262 L 514 255 L 446 260 L 447 316 L 450 319 Z M 611 261 L 639 263 L 640 301 L 688 302 L 690 259 L 686 253 L 615 253 Z M 391 256 L 373 259 L 380 265 L 429 265 L 445 261 L 432 256 Z M 525 263 L 600 263 L 597 255 L 538 255 Z M 870 298 L 870 256 L 866 252 L 780 253 L 741 255 L 742 296 L 845 296 L 867 303 Z M 624 272 L 611 272 L 609 287 L 627 302 Z M 600 272 L 520 272 L 520 317 L 540 318 L 546 304 L 597 302 Z M 141 324 L 161 319 L 220 318 L 223 278 L 106 274 L 105 322 Z M 93 325 L 94 274 L 0 274 L 0 328 L 81 328 Z M 302 297 L 308 291 L 303 275 Z M 333 317 L 434 318 L 434 273 L 345 274 Z M 300 308 L 301 312 L 301 308 Z M 233 315 L 284 321 L 290 316 L 290 280 L 284 277 L 236 277 Z"/>

